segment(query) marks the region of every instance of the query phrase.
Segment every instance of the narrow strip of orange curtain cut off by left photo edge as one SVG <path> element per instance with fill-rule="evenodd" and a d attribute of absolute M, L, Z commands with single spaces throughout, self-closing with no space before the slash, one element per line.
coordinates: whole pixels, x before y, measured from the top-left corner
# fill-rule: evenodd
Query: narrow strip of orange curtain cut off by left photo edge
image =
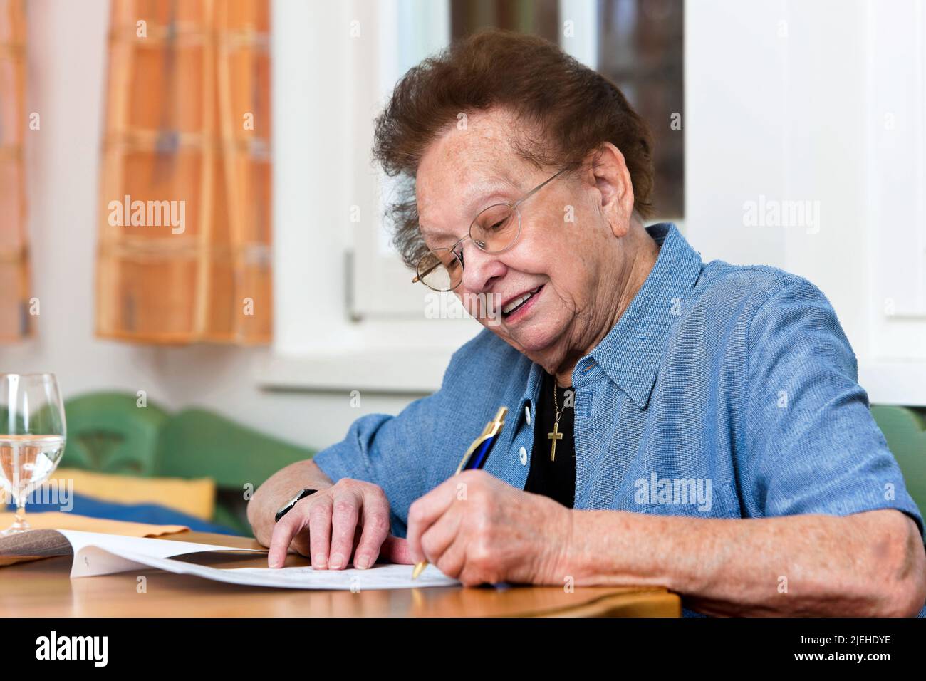
<path fill-rule="evenodd" d="M 0 342 L 31 334 L 26 239 L 26 13 L 21 0 L 0 0 Z"/>

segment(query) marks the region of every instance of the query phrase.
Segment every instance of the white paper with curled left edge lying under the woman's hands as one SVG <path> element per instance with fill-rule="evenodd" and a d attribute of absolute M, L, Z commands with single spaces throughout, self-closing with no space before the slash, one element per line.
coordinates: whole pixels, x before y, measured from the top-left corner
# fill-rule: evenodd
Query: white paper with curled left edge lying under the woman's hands
<path fill-rule="evenodd" d="M 158 568 L 175 574 L 194 574 L 199 577 L 229 584 L 245 586 L 276 586 L 282 588 L 336 589 L 361 591 L 383 588 L 412 588 L 422 586 L 456 586 L 456 579 L 446 576 L 429 565 L 417 579 L 411 578 L 412 565 L 374 565 L 367 570 L 313 570 L 311 567 L 291 568 L 232 568 L 220 569 L 207 565 L 171 560 L 202 551 L 255 551 L 262 549 L 236 549 L 234 547 L 194 544 L 170 539 L 151 539 L 137 536 L 105 535 L 96 532 L 59 530 L 74 549 L 74 562 L 70 576 L 91 577 L 144 568 Z M 263 552 L 266 552 L 264 550 Z"/>

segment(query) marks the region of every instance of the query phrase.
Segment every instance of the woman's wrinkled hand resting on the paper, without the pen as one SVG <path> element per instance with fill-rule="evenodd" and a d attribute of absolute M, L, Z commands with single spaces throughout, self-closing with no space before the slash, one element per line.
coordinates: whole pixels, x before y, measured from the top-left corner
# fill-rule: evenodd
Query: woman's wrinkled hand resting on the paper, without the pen
<path fill-rule="evenodd" d="M 344 569 L 351 556 L 361 569 L 381 555 L 388 562 L 412 562 L 406 540 L 389 534 L 389 501 L 382 488 L 350 478 L 300 499 L 273 526 L 269 566 L 282 567 L 290 548 L 322 570 Z"/>

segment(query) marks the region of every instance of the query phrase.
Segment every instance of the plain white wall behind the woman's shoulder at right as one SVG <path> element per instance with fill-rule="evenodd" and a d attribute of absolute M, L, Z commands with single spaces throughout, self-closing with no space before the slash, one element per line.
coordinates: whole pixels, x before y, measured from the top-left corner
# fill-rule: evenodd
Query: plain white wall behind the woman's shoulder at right
<path fill-rule="evenodd" d="M 883 311 L 889 296 L 914 299 L 926 277 L 922 6 L 685 6 L 686 235 L 705 260 L 775 265 L 817 284 L 873 402 L 926 404 L 926 314 Z M 745 202 L 761 196 L 810 201 L 819 221 L 751 226 Z M 900 257 L 918 250 L 920 262 Z"/>

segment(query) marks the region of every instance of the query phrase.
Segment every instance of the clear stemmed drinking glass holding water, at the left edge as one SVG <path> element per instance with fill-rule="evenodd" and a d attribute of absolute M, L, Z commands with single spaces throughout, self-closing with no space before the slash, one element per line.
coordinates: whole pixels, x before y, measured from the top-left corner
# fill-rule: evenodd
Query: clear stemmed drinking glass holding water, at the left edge
<path fill-rule="evenodd" d="M 16 502 L 16 519 L 0 535 L 29 529 L 26 498 L 55 470 L 66 437 L 54 374 L 0 373 L 0 489 Z"/>

